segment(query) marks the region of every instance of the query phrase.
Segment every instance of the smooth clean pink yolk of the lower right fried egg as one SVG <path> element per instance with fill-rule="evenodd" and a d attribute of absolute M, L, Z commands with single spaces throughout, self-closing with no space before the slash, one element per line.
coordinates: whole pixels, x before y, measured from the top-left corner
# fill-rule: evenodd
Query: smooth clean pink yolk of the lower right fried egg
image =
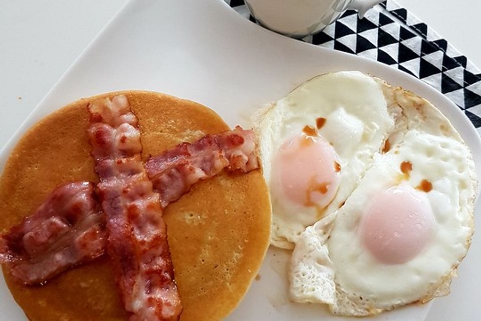
<path fill-rule="evenodd" d="M 408 185 L 374 197 L 360 226 L 364 246 L 380 262 L 401 264 L 419 254 L 434 230 L 434 216 L 425 193 Z"/>

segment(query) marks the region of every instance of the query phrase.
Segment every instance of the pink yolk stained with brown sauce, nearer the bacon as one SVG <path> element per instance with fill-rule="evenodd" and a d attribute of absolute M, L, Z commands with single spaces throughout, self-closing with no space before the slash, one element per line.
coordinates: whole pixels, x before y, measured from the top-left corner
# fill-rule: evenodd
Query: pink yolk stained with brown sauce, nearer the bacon
<path fill-rule="evenodd" d="M 322 209 L 336 196 L 342 169 L 334 147 L 323 137 L 291 137 L 277 151 L 273 167 L 281 199 Z"/>

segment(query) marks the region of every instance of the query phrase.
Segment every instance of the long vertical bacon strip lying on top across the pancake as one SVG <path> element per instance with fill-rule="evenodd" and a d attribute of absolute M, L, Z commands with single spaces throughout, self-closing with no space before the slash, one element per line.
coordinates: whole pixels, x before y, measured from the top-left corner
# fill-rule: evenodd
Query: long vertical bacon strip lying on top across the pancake
<path fill-rule="evenodd" d="M 182 310 L 162 219 L 140 159 L 137 117 L 127 97 L 92 102 L 88 129 L 107 218 L 107 250 L 131 321 L 177 320 Z"/>

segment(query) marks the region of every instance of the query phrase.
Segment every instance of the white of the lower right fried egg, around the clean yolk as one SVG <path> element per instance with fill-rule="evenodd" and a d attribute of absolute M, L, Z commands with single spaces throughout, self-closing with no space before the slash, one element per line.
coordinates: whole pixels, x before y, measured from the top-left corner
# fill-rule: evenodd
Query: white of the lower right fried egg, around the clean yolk
<path fill-rule="evenodd" d="M 337 212 L 309 227 L 293 252 L 291 297 L 328 304 L 341 315 L 364 316 L 448 293 L 473 232 L 476 190 L 469 149 L 449 121 L 430 103 L 384 84 L 386 99 L 402 108 L 390 133 L 391 149 L 374 155 L 373 166 Z M 403 179 L 400 164 L 412 172 Z M 426 179 L 434 234 L 416 257 L 383 264 L 367 251 L 358 228 L 369 201 L 392 186 L 416 188 Z"/>

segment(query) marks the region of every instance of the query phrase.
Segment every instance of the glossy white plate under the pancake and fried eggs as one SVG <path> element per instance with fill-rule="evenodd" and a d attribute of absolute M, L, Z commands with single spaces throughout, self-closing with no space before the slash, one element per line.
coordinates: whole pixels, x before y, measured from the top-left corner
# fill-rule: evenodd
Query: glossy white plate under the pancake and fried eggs
<path fill-rule="evenodd" d="M 252 111 L 283 97 L 301 82 L 346 69 L 370 73 L 430 100 L 461 133 L 473 152 L 477 173 L 481 173 L 479 135 L 464 114 L 433 88 L 388 66 L 264 30 L 222 0 L 127 3 L 19 128 L 2 150 L 0 166 L 32 124 L 81 97 L 124 89 L 160 91 L 203 103 L 233 126 L 245 124 Z M 476 257 L 479 262 L 480 241 L 473 239 L 468 259 Z M 286 252 L 270 249 L 261 279 L 253 282 L 227 320 L 343 319 L 329 315 L 319 305 L 289 302 L 287 259 Z M 461 277 L 466 280 L 476 275 L 473 260 L 469 269 L 462 270 Z M 3 278 L 1 281 L 2 319 L 26 320 Z M 369 319 L 423 320 L 429 306 L 412 305 Z"/>

